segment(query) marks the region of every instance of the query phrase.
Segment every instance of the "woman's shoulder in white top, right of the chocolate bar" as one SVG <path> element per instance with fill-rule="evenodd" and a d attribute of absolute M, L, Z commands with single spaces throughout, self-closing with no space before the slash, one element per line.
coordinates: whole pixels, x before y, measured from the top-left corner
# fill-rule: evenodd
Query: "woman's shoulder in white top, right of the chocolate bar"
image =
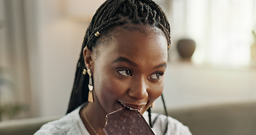
<path fill-rule="evenodd" d="M 148 113 L 143 114 L 146 121 L 149 121 Z M 178 120 L 163 114 L 151 113 L 151 122 L 153 124 L 152 131 L 155 134 L 174 134 L 174 135 L 191 135 L 190 130 L 186 125 L 183 125 Z"/>

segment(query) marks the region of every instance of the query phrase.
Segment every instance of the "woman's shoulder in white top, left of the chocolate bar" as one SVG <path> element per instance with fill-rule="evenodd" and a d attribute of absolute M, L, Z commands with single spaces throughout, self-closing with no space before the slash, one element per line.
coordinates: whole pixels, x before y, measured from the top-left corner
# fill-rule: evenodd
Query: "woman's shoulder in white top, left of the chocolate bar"
<path fill-rule="evenodd" d="M 79 110 L 80 107 L 59 120 L 44 124 L 35 134 L 86 134 Z"/>

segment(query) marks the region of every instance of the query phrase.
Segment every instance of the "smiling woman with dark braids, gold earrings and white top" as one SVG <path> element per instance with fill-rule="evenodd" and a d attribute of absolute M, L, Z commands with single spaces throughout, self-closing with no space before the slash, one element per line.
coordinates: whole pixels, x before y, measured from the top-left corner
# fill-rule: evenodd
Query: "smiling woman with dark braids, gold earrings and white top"
<path fill-rule="evenodd" d="M 125 106 L 140 111 L 155 134 L 191 134 L 150 112 L 163 92 L 169 46 L 169 23 L 153 1 L 106 1 L 87 29 L 68 114 L 35 134 L 105 134 L 106 114 Z"/>

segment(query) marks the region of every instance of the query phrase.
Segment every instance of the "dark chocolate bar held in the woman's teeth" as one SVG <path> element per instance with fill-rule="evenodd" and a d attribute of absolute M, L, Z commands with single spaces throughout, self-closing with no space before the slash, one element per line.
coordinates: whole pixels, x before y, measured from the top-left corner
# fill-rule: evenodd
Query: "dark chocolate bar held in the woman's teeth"
<path fill-rule="evenodd" d="M 103 131 L 106 135 L 155 135 L 141 113 L 127 107 L 107 114 Z"/>

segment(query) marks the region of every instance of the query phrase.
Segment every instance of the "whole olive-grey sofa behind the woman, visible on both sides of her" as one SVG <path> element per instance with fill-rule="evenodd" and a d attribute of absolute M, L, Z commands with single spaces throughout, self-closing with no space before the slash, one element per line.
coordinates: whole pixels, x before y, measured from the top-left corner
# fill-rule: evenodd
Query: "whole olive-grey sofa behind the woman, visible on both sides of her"
<path fill-rule="evenodd" d="M 168 114 L 194 135 L 255 135 L 256 101 L 170 109 Z M 0 134 L 33 134 L 44 123 L 61 118 L 30 118 L 0 122 Z"/>

